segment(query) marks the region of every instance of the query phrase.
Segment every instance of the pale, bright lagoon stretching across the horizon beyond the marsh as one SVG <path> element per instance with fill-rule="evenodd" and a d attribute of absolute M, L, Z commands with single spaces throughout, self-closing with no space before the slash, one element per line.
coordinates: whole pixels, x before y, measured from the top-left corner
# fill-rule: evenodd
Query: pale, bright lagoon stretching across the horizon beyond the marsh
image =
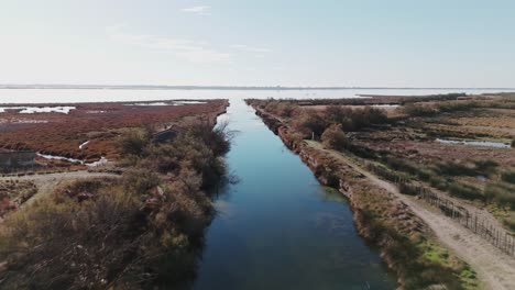
<path fill-rule="evenodd" d="M 0 103 L 70 103 L 154 101 L 174 99 L 317 99 L 357 94 L 423 96 L 448 92 L 483 93 L 498 89 L 340 89 L 340 90 L 134 90 L 134 89 L 0 89 Z M 509 90 L 503 90 L 509 91 Z M 512 89 L 512 91 L 514 91 Z"/>

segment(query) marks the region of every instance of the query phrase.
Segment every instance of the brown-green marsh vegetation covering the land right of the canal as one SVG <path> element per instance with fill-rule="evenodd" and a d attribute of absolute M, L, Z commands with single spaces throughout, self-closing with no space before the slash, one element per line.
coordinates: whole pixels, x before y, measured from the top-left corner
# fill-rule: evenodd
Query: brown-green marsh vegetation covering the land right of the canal
<path fill-rule="evenodd" d="M 515 155 L 512 149 L 506 146 L 436 142 L 437 138 L 452 137 L 478 143 L 509 144 L 515 129 L 513 94 L 373 97 L 359 100 L 252 99 L 248 102 L 302 156 L 311 144 L 306 145 L 303 140 L 321 142 L 326 148 L 341 152 L 354 160 L 372 161 L 396 178 L 434 188 L 462 200 L 468 207 L 486 209 L 492 219 L 496 217 L 498 224 L 507 231 L 515 228 L 515 188 L 512 176 Z M 385 102 L 398 107 L 388 110 L 371 107 Z M 355 179 L 355 175 L 349 170 L 342 171 L 344 163 L 313 157 L 321 156 L 317 150 L 310 150 L 309 155 L 317 159 L 315 174 L 329 186 L 338 188 L 342 180 L 349 180 L 353 189 L 351 199 L 359 204 L 355 208 L 360 210 L 357 213 L 354 209 L 354 214 L 366 217 L 363 219 L 368 221 L 364 227 L 373 227 L 364 235 L 370 235 L 371 241 L 388 253 L 385 254 L 392 259 L 388 265 L 405 279 L 407 289 L 421 289 L 439 282 L 449 289 L 479 287 L 470 266 L 452 253 L 446 254 L 446 259 L 436 259 L 430 254 L 434 252 L 431 247 L 442 247 L 430 231 L 418 233 L 413 228 L 399 227 L 402 221 L 398 215 L 392 214 L 395 207 L 386 202 L 384 193 L 375 192 L 371 185 L 363 186 L 366 190 L 359 190 L 359 182 L 350 181 Z M 410 193 L 408 189 L 401 188 L 405 193 Z M 377 238 L 381 233 L 394 235 L 392 239 L 398 241 L 398 248 L 393 246 L 395 243 L 386 246 Z M 405 252 L 401 248 L 414 250 L 403 256 Z M 406 269 L 421 272 L 428 270 L 435 276 L 419 275 L 413 278 L 414 275 L 409 275 Z"/>

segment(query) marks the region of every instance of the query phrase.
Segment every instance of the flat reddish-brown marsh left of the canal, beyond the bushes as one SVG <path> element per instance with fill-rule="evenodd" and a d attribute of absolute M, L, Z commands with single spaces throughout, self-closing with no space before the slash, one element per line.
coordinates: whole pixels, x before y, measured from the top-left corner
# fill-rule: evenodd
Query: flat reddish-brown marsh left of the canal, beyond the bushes
<path fill-rule="evenodd" d="M 7 110 L 0 113 L 0 147 L 85 160 L 98 160 L 101 156 L 116 159 L 120 152 L 114 141 L 127 129 L 142 125 L 162 129 L 190 116 L 212 119 L 227 104 L 227 100 L 184 105 L 64 104 L 76 107 L 69 114 L 20 114 L 15 110 Z M 79 145 L 87 141 L 90 141 L 88 145 L 79 149 Z"/>

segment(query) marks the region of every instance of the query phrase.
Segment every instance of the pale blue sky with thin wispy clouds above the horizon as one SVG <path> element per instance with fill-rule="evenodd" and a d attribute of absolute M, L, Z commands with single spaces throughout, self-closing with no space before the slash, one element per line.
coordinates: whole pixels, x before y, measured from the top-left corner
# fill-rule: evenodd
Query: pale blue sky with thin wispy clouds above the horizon
<path fill-rule="evenodd" d="M 0 83 L 515 87 L 515 1 L 1 0 Z"/>

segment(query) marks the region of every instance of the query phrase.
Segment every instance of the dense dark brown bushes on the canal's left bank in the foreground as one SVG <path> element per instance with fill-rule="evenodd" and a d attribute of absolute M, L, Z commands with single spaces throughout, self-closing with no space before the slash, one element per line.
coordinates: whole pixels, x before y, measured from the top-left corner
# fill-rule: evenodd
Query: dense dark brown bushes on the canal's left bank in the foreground
<path fill-rule="evenodd" d="M 122 178 L 65 185 L 4 221 L 2 289 L 177 288 L 195 277 L 211 203 L 224 174 L 224 131 L 196 123 L 175 140 L 118 141 Z"/>

